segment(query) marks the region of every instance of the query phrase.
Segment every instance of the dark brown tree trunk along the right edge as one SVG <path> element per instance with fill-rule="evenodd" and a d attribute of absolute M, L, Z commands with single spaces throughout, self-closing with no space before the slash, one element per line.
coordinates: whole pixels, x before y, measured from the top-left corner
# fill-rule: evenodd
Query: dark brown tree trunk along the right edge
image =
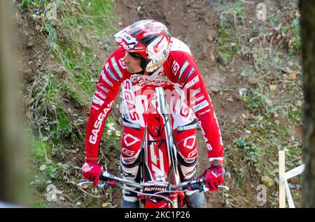
<path fill-rule="evenodd" d="M 302 207 L 315 207 L 315 1 L 300 0 L 304 92 Z"/>

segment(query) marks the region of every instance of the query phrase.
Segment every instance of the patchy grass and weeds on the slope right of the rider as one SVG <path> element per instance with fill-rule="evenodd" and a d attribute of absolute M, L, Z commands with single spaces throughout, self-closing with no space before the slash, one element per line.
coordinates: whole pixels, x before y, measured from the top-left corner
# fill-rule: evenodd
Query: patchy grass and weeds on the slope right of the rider
<path fill-rule="evenodd" d="M 225 147 L 225 159 L 235 175 L 233 186 L 241 193 L 235 196 L 240 199 L 251 198 L 248 184 L 254 189 L 262 175 L 276 181 L 279 150 L 286 150 L 286 169 L 302 164 L 302 142 L 290 130 L 291 126 L 301 123 L 301 82 L 299 77 L 291 78 L 290 73 L 283 73 L 289 63 L 293 64 L 290 69 L 300 70 L 299 61 L 295 59 L 300 56 L 300 24 L 297 3 L 287 1 L 286 5 L 281 8 L 281 13 L 267 13 L 266 22 L 272 27 L 278 27 L 282 22 L 279 31 L 271 31 L 255 17 L 250 17 L 248 11 L 244 17 L 246 6 L 243 1 L 219 3 L 216 12 L 221 15 L 216 49 L 222 52 L 232 68 L 238 67 L 233 61 L 252 61 L 240 77 L 257 80 L 240 97 L 246 108 L 244 117 L 241 117 L 244 119 L 229 126 L 237 133 L 232 144 Z M 270 84 L 276 86 L 273 91 Z M 277 206 L 279 200 L 275 192 L 276 186 L 268 188 L 265 206 Z M 298 200 L 298 194 L 295 198 Z M 233 205 L 237 207 L 238 204 L 233 202 Z"/>

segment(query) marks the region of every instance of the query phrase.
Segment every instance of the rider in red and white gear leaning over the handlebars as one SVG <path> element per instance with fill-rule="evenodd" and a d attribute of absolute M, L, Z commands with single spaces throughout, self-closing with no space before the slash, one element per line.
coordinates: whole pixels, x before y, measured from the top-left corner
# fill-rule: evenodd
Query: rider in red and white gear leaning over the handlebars
<path fill-rule="evenodd" d="M 197 165 L 196 126 L 199 123 L 206 143 L 209 168 L 207 186 L 216 191 L 223 183 L 223 142 L 207 87 L 189 47 L 172 37 L 161 22 L 141 20 L 115 36 L 119 47 L 106 60 L 92 97 L 85 138 L 85 179 L 97 186 L 102 168 L 98 164 L 99 142 L 106 117 L 122 85 L 123 138 L 120 168 L 125 179 L 135 180 L 141 160 L 141 142 L 146 126 L 148 96 L 155 87 L 172 89 L 168 99 L 174 139 L 178 147 L 181 179 L 195 177 Z M 183 91 L 189 91 L 187 98 Z M 146 98 L 144 98 L 146 97 Z M 174 99 L 175 97 L 175 99 Z M 193 105 L 192 105 L 193 104 Z M 125 185 L 126 188 L 132 189 Z M 205 207 L 204 194 L 186 192 L 188 207 Z M 123 207 L 138 207 L 137 193 L 123 191 Z"/>

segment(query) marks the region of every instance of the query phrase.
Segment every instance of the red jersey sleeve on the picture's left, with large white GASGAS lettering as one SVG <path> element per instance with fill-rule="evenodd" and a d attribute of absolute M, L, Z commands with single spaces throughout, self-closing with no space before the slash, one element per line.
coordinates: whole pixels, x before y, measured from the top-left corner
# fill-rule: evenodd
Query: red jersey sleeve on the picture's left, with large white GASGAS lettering
<path fill-rule="evenodd" d="M 122 58 L 125 52 L 121 47 L 107 59 L 92 96 L 90 115 L 85 135 L 85 161 L 96 162 L 99 156 L 99 141 L 103 135 L 106 118 L 111 112 L 120 84 L 130 73 L 125 69 Z"/>

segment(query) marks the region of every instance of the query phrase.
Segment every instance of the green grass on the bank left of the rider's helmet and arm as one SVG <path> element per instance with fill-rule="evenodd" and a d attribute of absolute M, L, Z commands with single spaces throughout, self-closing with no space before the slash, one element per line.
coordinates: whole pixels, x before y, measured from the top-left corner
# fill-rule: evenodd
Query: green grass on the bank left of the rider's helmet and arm
<path fill-rule="evenodd" d="M 48 3 L 55 4 L 57 17 L 49 20 L 45 16 Z M 111 24 L 113 3 L 111 1 L 20 1 L 20 8 L 31 8 L 34 15 L 42 15 L 39 24 L 47 36 L 47 50 L 52 59 L 62 66 L 66 73 L 60 77 L 57 71 L 38 73 L 41 80 L 33 92 L 35 111 L 50 115 L 46 127 L 54 140 L 59 134 L 69 135 L 72 127 L 69 114 L 62 99 L 67 96 L 78 104 L 89 107 L 95 89 L 95 81 L 101 68 L 94 57 L 90 36 L 97 35 L 102 40 L 105 35 L 113 35 Z M 50 112 L 50 113 L 49 113 Z"/>

